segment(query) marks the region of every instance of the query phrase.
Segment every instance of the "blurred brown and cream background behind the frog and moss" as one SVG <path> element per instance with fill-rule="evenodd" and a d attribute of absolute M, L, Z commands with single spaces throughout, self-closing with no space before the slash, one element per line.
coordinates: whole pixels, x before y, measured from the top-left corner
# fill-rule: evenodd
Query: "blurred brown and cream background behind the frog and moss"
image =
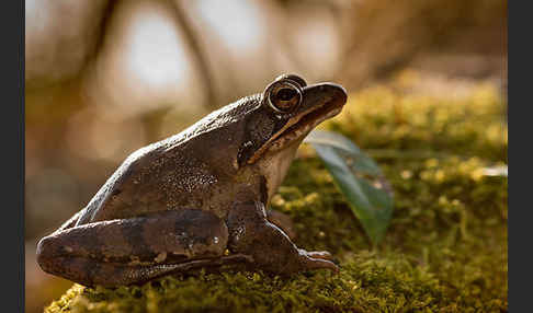
<path fill-rule="evenodd" d="M 507 1 L 25 1 L 26 312 L 71 282 L 38 239 L 133 151 L 276 76 L 350 93 L 416 73 L 416 92 L 489 82 L 507 96 Z M 363 147 L 364 148 L 364 147 Z"/>

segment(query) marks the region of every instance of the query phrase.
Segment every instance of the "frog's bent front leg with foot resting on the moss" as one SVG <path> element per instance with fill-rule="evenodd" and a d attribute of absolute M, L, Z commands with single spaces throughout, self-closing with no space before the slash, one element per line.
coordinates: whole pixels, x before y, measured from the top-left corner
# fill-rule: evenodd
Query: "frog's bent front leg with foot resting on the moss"
<path fill-rule="evenodd" d="M 328 252 L 307 252 L 298 248 L 280 228 L 266 219 L 262 202 L 235 205 L 228 216 L 227 225 L 229 250 L 251 255 L 260 269 L 276 274 L 317 268 L 339 271 Z"/>

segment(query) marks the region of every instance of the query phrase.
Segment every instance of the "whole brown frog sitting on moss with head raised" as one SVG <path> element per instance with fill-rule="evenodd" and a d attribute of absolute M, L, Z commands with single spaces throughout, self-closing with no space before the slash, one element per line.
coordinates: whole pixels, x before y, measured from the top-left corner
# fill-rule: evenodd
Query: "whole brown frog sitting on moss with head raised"
<path fill-rule="evenodd" d="M 269 208 L 304 138 L 338 115 L 347 91 L 285 73 L 138 149 L 93 198 L 37 243 L 37 263 L 83 286 L 139 285 L 199 268 L 274 275 L 328 269 L 326 251 L 293 243 Z"/>

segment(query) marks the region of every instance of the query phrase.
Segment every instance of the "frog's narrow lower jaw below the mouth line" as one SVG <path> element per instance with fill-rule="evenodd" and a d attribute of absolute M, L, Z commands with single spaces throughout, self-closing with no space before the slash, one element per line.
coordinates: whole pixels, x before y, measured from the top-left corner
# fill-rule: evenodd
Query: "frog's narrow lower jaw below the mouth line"
<path fill-rule="evenodd" d="M 248 164 L 256 163 L 265 153 L 277 152 L 291 146 L 296 140 L 304 139 L 317 125 L 339 114 L 343 105 L 343 102 L 332 100 L 320 106 L 310 107 L 293 117 L 256 151 L 248 160 Z"/>

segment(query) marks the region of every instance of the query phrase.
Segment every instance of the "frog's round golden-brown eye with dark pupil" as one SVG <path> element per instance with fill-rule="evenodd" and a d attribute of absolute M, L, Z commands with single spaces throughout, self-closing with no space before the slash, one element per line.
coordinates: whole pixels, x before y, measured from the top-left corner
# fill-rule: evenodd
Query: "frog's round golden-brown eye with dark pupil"
<path fill-rule="evenodd" d="M 302 103 L 302 88 L 292 81 L 276 81 L 266 88 L 264 96 L 276 112 L 290 113 Z"/>

